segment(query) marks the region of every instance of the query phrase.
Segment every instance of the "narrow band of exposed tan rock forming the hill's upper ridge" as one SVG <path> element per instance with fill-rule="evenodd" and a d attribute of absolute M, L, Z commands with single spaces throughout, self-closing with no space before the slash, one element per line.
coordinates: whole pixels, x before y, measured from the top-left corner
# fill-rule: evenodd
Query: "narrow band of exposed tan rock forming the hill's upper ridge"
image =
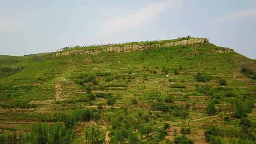
<path fill-rule="evenodd" d="M 131 42 L 127 44 L 116 45 L 99 45 L 99 46 L 85 46 L 75 47 L 71 49 L 64 49 L 63 51 L 55 52 L 53 56 L 63 55 L 78 55 L 78 54 L 100 54 L 100 53 L 127 53 L 132 51 L 146 50 L 152 47 L 168 47 L 177 45 L 193 45 L 209 43 L 208 38 L 178 38 L 173 40 L 150 41 L 150 42 Z"/>

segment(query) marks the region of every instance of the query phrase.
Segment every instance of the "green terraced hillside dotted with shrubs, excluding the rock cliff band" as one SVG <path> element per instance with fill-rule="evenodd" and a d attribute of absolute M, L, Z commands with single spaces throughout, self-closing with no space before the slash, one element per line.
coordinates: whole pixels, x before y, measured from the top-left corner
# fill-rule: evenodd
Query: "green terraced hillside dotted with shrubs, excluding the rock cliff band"
<path fill-rule="evenodd" d="M 88 47 L 64 51 L 82 49 Z M 251 144 L 255 72 L 255 60 L 210 43 L 98 55 L 2 55 L 0 142 L 17 133 L 32 144 L 83 144 L 96 129 L 99 142 L 88 144 L 233 144 L 246 138 Z M 38 134 L 41 125 L 63 126 L 63 134 Z"/>

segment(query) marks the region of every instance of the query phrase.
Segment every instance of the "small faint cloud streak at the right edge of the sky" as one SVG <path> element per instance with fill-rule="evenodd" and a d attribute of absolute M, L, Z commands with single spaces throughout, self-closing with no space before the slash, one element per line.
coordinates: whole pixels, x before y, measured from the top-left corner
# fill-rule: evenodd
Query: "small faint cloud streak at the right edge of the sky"
<path fill-rule="evenodd" d="M 241 20 L 244 18 L 249 18 L 256 15 L 256 8 L 247 9 L 244 11 L 238 11 L 230 15 L 223 16 L 220 21 L 230 21 L 230 20 Z"/>

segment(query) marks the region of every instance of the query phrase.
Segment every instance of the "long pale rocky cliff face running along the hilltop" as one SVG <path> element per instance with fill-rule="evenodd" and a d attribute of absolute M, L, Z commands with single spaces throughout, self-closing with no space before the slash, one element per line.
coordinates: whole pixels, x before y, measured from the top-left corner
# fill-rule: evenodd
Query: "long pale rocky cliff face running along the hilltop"
<path fill-rule="evenodd" d="M 153 45 L 124 45 L 124 46 L 106 46 L 102 49 L 97 50 L 73 50 L 73 51 L 62 51 L 53 53 L 53 56 L 62 56 L 62 55 L 78 55 L 78 54 L 100 54 L 100 53 L 127 53 L 133 51 L 142 51 L 148 48 L 153 47 L 168 47 L 168 46 L 175 46 L 175 45 L 193 45 L 193 44 L 202 44 L 202 43 L 209 43 L 208 38 L 191 38 L 187 40 L 180 40 L 175 42 L 169 42 L 165 44 L 153 44 Z"/>

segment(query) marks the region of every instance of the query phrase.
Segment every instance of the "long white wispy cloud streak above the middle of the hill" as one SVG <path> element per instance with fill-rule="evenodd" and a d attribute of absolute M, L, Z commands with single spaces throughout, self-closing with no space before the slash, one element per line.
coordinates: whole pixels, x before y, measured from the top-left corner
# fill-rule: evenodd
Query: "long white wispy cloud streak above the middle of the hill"
<path fill-rule="evenodd" d="M 103 23 L 100 32 L 119 32 L 141 26 L 157 17 L 166 9 L 174 6 L 175 1 L 176 0 L 159 0 L 158 2 L 146 5 L 143 9 L 133 14 L 109 19 Z"/>

